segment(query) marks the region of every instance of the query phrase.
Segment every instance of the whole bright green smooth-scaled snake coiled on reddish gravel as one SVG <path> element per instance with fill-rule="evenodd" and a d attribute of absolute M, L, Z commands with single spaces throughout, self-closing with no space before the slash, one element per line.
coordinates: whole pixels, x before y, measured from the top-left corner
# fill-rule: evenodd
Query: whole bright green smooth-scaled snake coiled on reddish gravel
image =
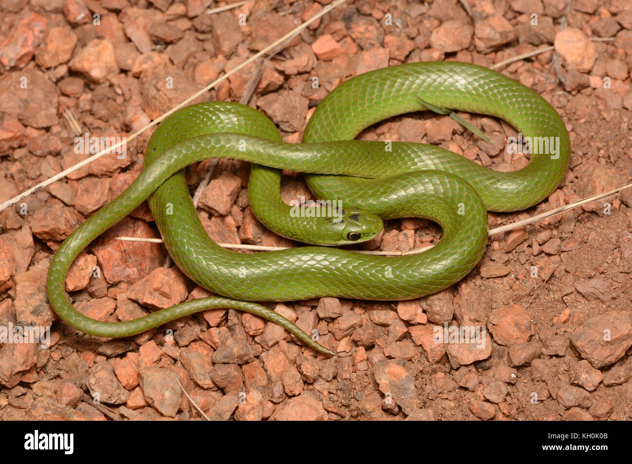
<path fill-rule="evenodd" d="M 528 164 L 514 172 L 496 172 L 437 146 L 353 140 L 388 117 L 437 108 L 509 122 L 533 141 Z M 546 145 L 538 143 L 543 140 Z M 495 71 L 459 62 L 402 64 L 351 78 L 320 102 L 301 144 L 283 143 L 274 124 L 245 105 L 192 105 L 168 117 L 152 134 L 144 170 L 130 187 L 59 247 L 47 278 L 49 301 L 64 322 L 106 337 L 134 335 L 205 309 L 239 309 L 280 324 L 315 350 L 336 355 L 254 301 L 323 296 L 403 300 L 444 289 L 465 277 L 482 257 L 487 210 L 521 210 L 546 198 L 566 174 L 569 152 L 564 122 L 544 98 Z M 397 257 L 315 246 L 228 251 L 202 227 L 184 177 L 186 165 L 210 157 L 253 163 L 250 206 L 279 234 L 292 237 L 288 229 L 305 219 L 290 217 L 279 196 L 280 169 L 291 169 L 306 173 L 318 198 L 339 199 L 345 210 L 342 221 L 319 219 L 306 226 L 307 232 L 296 232 L 308 242 L 327 241 L 321 235 L 328 234 L 341 243 L 370 238 L 381 227 L 374 215 L 428 218 L 441 225 L 441 240 L 424 253 Z M 84 316 L 64 293 L 68 268 L 92 240 L 148 198 L 174 262 L 221 296 L 183 302 L 133 321 L 109 323 Z"/>

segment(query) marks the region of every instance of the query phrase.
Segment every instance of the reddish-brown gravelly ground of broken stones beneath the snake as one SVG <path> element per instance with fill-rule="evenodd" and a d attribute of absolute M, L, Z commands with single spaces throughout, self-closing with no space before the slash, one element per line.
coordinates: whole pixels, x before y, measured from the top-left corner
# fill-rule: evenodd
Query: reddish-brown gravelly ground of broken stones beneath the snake
<path fill-rule="evenodd" d="M 142 129 L 329 3 L 250 1 L 209 14 L 226 2 L 0 1 L 0 202 L 88 158 L 100 137 Z M 561 114 L 571 165 L 541 205 L 490 213 L 492 228 L 630 182 L 628 0 L 349 0 L 265 59 L 250 98 L 257 62 L 196 101 L 246 100 L 298 142 L 313 108 L 356 74 L 434 60 L 492 68 L 546 47 L 498 71 Z M 526 164 L 528 155 L 507 150 L 516 136 L 508 124 L 462 116 L 492 143 L 429 112 L 382 121 L 360 138 L 433 143 L 497 170 Z M 1 419 L 631 419 L 632 189 L 491 236 L 470 275 L 435 295 L 269 305 L 317 330 L 336 359 L 222 309 L 120 340 L 61 323 L 46 296 L 52 256 L 142 171 L 151 132 L 125 157 L 99 158 L 0 213 Z M 192 192 L 208 166 L 187 170 Z M 210 237 L 295 246 L 253 216 L 248 173 L 232 160 L 214 170 L 198 205 Z M 293 172 L 282 194 L 310 198 Z M 146 203 L 76 259 L 66 290 L 83 314 L 126 321 L 209 295 L 161 244 L 118 236 L 159 237 Z M 407 251 L 440 236 L 427 220 L 391 220 L 362 247 Z M 29 327 L 49 328 L 47 346 L 15 335 Z M 453 339 L 455 330 L 477 338 Z"/>

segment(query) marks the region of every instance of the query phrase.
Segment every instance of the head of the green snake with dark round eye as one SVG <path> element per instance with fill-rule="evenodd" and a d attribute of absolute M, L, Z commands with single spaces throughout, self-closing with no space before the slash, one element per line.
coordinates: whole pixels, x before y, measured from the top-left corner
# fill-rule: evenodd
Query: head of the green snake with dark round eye
<path fill-rule="evenodd" d="M 340 208 L 336 214 L 315 217 L 317 232 L 315 245 L 339 246 L 366 242 L 384 229 L 382 220 L 374 213 L 358 208 Z"/>

